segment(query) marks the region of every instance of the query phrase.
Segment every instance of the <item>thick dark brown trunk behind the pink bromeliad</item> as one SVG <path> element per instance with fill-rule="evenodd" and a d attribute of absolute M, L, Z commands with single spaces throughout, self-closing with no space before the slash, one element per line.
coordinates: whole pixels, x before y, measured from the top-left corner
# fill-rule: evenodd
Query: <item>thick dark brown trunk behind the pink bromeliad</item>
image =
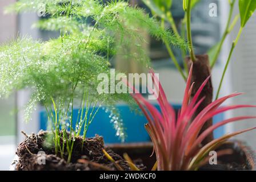
<path fill-rule="evenodd" d="M 194 97 L 195 93 L 199 89 L 199 87 L 202 85 L 203 81 L 206 80 L 207 77 L 211 75 L 211 68 L 209 63 L 209 56 L 208 55 L 197 55 L 195 56 L 197 58 L 197 61 L 193 63 L 193 73 L 191 78 L 191 83 L 195 82 L 194 88 L 191 93 L 191 97 Z M 187 57 L 186 59 L 187 67 L 191 67 L 192 60 L 190 57 Z M 211 104 L 213 101 L 213 85 L 211 84 L 211 78 L 203 88 L 198 101 L 205 97 L 205 100 L 201 103 L 201 105 L 198 107 L 197 111 L 195 111 L 194 117 L 197 116 L 207 105 Z M 203 125 L 200 134 L 205 131 L 208 127 L 213 125 L 213 119 L 209 119 L 205 125 Z M 202 144 L 205 145 L 213 140 L 213 133 L 209 134 L 203 141 Z"/>

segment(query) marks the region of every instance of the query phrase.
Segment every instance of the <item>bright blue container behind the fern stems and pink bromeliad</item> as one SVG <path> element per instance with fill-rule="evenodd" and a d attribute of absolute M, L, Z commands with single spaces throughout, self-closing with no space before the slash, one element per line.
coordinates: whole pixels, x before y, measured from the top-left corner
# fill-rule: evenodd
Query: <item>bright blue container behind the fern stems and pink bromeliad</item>
<path fill-rule="evenodd" d="M 159 109 L 159 105 L 155 104 L 155 107 Z M 179 110 L 181 105 L 173 105 L 175 110 Z M 149 142 L 150 137 L 147 134 L 144 125 L 147 123 L 147 119 L 143 115 L 135 114 L 132 112 L 127 105 L 118 105 L 117 108 L 120 111 L 120 115 L 123 119 L 123 125 L 126 129 L 126 143 L 133 142 Z M 90 111 L 89 111 L 90 112 Z M 39 113 L 39 122 L 40 129 L 47 129 L 47 113 L 45 110 L 42 110 Z M 77 121 L 78 109 L 74 110 L 74 121 Z M 223 120 L 223 114 L 219 114 L 213 118 L 213 122 Z M 75 122 L 74 126 L 75 127 Z M 109 113 L 106 113 L 105 110 L 99 109 L 98 113 L 95 115 L 94 121 L 91 122 L 87 131 L 87 137 L 94 137 L 95 134 L 103 136 L 105 143 L 121 143 L 121 140 L 115 135 L 116 131 L 113 127 L 113 123 L 110 123 Z M 83 130 L 83 129 L 82 129 Z M 224 134 L 223 127 L 214 131 L 214 137 L 218 138 Z"/>

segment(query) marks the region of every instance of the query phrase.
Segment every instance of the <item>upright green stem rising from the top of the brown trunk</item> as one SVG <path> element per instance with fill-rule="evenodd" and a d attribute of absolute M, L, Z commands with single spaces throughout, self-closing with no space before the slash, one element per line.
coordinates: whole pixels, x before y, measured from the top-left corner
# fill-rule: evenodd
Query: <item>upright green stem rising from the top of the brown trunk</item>
<path fill-rule="evenodd" d="M 194 49 L 193 49 L 193 42 L 192 42 L 192 35 L 191 35 L 191 0 L 188 0 L 187 5 L 187 41 L 189 43 L 189 52 L 190 52 L 190 59 L 195 62 L 197 59 L 195 57 Z"/>

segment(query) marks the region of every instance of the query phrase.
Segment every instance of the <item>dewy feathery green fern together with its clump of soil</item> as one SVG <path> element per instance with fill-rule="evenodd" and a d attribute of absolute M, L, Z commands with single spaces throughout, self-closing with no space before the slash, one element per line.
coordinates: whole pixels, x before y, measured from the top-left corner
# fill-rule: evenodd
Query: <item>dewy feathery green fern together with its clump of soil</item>
<path fill-rule="evenodd" d="M 159 28 L 143 10 L 123 1 L 23 0 L 8 7 L 7 11 L 37 11 L 41 4 L 45 5 L 44 13 L 48 18 L 35 26 L 59 31 L 59 38 L 46 42 L 18 38 L 2 46 L 0 52 L 1 96 L 29 88 L 32 94 L 25 107 L 25 120 L 29 120 L 38 102 L 45 106 L 49 120 L 49 132 L 25 134 L 26 139 L 17 150 L 17 168 L 129 169 L 120 156 L 104 150 L 102 138 L 86 139 L 90 123 L 101 105 L 110 107 L 119 100 L 133 105 L 129 94 L 98 93 L 98 75 L 110 74 L 110 61 L 120 47 L 126 47 L 134 39 L 143 41 L 137 35 L 138 27 L 181 48 L 186 48 L 186 43 L 170 31 Z M 87 22 L 89 19 L 92 23 Z M 149 60 L 146 53 L 139 44 L 135 48 L 139 55 L 127 53 L 124 56 L 131 56 L 146 65 Z M 76 121 L 74 106 L 79 108 Z M 115 107 L 110 110 L 117 135 L 123 139 L 125 133 L 122 122 L 118 121 L 118 111 Z M 46 153 L 47 165 L 38 164 L 41 150 Z M 111 158 L 121 162 L 117 164 Z"/>

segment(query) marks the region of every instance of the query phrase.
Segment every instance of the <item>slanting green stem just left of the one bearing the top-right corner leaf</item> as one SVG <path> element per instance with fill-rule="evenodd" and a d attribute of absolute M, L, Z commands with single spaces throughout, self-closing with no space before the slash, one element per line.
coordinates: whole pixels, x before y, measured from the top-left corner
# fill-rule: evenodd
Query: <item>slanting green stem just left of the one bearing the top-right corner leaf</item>
<path fill-rule="evenodd" d="M 235 1 L 234 0 L 232 3 L 230 3 L 230 11 L 229 11 L 229 18 L 227 19 L 227 24 L 226 24 L 226 28 L 225 28 L 225 31 L 224 31 L 224 34 L 222 36 L 222 39 L 221 39 L 221 42 L 219 43 L 219 46 L 218 46 L 218 50 L 217 52 L 215 53 L 214 55 L 214 58 L 213 58 L 213 61 L 211 63 L 211 68 L 214 67 L 218 57 L 219 57 L 219 53 L 221 53 L 221 48 L 223 46 L 223 43 L 224 41 L 226 40 L 226 37 L 227 35 L 229 35 L 229 25 L 230 25 L 230 22 L 231 22 L 231 17 L 232 17 L 232 14 L 233 14 L 233 10 L 234 10 L 234 5 L 235 5 Z"/>

